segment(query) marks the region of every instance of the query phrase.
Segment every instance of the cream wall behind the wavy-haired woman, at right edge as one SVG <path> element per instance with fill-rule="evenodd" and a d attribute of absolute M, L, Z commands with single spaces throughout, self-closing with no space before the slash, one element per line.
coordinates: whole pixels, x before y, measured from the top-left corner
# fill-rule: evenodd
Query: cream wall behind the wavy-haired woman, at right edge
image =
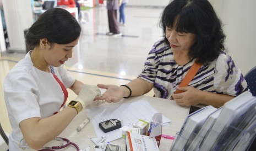
<path fill-rule="evenodd" d="M 210 0 L 226 33 L 226 47 L 236 65 L 246 74 L 256 66 L 256 1 Z"/>

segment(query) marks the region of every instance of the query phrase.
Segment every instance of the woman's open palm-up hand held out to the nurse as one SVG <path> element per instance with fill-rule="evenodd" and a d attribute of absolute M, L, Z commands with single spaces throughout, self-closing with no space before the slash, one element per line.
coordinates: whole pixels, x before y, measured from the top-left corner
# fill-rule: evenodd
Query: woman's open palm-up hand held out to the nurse
<path fill-rule="evenodd" d="M 97 86 L 101 89 L 107 89 L 101 97 L 96 97 L 96 100 L 106 100 L 107 102 L 119 102 L 125 95 L 124 89 L 117 85 L 105 85 L 105 84 L 97 84 Z M 126 88 L 125 88 L 126 89 Z"/>

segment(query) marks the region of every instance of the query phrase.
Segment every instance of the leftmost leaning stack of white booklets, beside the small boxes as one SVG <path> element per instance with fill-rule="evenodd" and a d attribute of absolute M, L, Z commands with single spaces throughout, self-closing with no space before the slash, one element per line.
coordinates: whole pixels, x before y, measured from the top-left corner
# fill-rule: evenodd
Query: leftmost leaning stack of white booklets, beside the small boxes
<path fill-rule="evenodd" d="M 216 111 L 216 108 L 213 106 L 206 106 L 189 114 L 184 121 L 181 131 L 179 131 L 179 136 L 175 138 L 171 150 L 182 150 L 185 146 L 188 146 L 189 144 L 187 142 L 190 135 L 192 133 L 198 133 L 206 118 L 214 111 Z"/>

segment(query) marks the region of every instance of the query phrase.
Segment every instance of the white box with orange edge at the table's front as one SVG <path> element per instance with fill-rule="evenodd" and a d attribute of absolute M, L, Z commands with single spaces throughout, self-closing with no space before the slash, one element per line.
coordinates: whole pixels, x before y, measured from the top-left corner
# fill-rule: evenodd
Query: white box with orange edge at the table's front
<path fill-rule="evenodd" d="M 159 151 L 155 137 L 131 132 L 127 132 L 126 148 L 127 151 Z"/>

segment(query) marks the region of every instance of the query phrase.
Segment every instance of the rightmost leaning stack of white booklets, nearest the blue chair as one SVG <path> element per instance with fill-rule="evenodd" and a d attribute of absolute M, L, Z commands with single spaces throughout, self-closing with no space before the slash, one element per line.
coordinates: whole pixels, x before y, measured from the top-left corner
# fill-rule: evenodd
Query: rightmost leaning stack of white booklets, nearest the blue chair
<path fill-rule="evenodd" d="M 256 98 L 253 97 L 250 92 L 244 92 L 243 94 L 233 98 L 224 104 L 219 118 L 215 121 L 212 129 L 205 137 L 200 150 L 214 150 L 215 148 L 221 148 L 220 146 L 226 146 L 221 140 L 225 140 L 222 137 L 228 136 L 227 129 L 231 124 L 240 122 L 242 118 L 247 117 L 249 108 L 255 104 Z"/>

